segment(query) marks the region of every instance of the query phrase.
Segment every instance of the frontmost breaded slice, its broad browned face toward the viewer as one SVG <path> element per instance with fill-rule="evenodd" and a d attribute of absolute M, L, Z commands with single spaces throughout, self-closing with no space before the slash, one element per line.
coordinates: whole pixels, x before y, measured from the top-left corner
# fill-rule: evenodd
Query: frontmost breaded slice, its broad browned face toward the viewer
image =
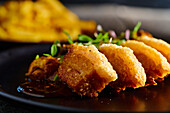
<path fill-rule="evenodd" d="M 116 71 L 94 45 L 73 45 L 58 69 L 59 77 L 79 95 L 97 97 L 117 79 Z"/>

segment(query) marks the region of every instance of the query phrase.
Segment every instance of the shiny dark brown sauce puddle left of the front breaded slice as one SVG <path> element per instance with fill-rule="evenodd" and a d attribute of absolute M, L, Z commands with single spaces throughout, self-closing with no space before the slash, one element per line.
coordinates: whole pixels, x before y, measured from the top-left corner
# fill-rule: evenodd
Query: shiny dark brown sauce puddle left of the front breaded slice
<path fill-rule="evenodd" d="M 29 78 L 17 88 L 18 92 L 34 97 L 73 96 L 75 93 L 60 80 L 31 81 Z"/>

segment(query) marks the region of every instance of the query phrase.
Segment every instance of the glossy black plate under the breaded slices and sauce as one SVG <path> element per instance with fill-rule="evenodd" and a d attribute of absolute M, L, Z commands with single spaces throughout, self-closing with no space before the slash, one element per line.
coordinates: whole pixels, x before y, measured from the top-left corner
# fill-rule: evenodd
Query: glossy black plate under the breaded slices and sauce
<path fill-rule="evenodd" d="M 114 93 L 107 88 L 99 97 L 80 96 L 36 98 L 17 92 L 18 85 L 36 54 L 47 53 L 50 45 L 31 45 L 7 50 L 0 54 L 0 95 L 9 99 L 63 111 L 170 111 L 170 77 L 157 86 L 127 89 Z"/>

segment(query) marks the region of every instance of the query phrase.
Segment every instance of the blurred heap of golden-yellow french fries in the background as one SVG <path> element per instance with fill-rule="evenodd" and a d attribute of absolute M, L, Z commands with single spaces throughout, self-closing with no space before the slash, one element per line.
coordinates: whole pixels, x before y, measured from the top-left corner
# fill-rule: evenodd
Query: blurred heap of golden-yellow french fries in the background
<path fill-rule="evenodd" d="M 87 26 L 87 27 L 86 27 Z M 59 0 L 8 1 L 0 6 L 0 40 L 12 42 L 67 41 L 93 33 L 94 21 L 82 21 Z"/>

